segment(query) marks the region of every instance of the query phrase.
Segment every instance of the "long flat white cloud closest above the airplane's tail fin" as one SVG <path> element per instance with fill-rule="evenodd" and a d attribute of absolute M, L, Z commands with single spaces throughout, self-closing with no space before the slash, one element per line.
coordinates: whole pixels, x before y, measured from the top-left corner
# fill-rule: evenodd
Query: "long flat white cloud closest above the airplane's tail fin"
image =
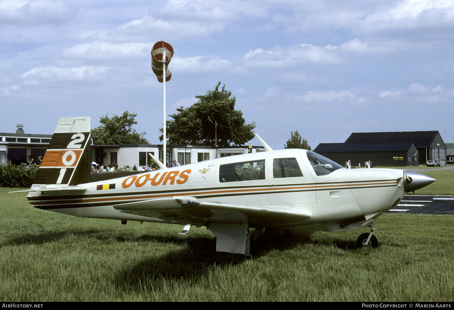
<path fill-rule="evenodd" d="M 82 66 L 82 67 L 36 67 L 25 72 L 20 77 L 38 80 L 67 80 L 67 81 L 93 81 L 104 79 L 104 74 L 110 67 L 106 66 Z"/>

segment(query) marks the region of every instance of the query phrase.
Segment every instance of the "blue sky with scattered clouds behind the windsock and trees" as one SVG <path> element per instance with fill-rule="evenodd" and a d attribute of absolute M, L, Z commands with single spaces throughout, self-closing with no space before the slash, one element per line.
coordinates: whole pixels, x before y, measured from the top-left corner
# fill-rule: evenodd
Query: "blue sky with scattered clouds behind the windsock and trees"
<path fill-rule="evenodd" d="M 167 115 L 220 81 L 273 149 L 296 130 L 312 149 L 354 132 L 454 143 L 453 30 L 454 0 L 0 0 L 0 132 L 128 110 L 160 144 L 163 40 Z"/>

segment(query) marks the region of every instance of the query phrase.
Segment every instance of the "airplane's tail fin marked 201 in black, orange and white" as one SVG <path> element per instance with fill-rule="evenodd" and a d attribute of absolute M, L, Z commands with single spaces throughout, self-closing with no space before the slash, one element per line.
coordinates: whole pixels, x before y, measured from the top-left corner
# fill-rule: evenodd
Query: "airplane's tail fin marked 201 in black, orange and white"
<path fill-rule="evenodd" d="M 90 169 L 90 118 L 59 120 L 34 184 L 80 184 Z"/>

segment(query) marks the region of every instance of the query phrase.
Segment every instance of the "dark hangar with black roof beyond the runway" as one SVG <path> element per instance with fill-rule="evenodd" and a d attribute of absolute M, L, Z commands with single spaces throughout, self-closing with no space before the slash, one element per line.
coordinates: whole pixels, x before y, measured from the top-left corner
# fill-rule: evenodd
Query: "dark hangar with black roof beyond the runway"
<path fill-rule="evenodd" d="M 345 143 L 320 143 L 314 152 L 344 165 L 371 161 L 374 166 L 418 166 L 446 162 L 446 145 L 438 131 L 353 133 Z"/>

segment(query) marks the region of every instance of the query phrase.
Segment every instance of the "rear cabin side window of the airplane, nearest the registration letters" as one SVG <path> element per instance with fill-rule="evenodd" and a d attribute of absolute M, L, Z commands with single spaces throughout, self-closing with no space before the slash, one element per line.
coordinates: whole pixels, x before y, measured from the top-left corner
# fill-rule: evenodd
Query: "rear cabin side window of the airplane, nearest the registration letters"
<path fill-rule="evenodd" d="M 219 167 L 219 182 L 265 180 L 265 159 Z"/>

